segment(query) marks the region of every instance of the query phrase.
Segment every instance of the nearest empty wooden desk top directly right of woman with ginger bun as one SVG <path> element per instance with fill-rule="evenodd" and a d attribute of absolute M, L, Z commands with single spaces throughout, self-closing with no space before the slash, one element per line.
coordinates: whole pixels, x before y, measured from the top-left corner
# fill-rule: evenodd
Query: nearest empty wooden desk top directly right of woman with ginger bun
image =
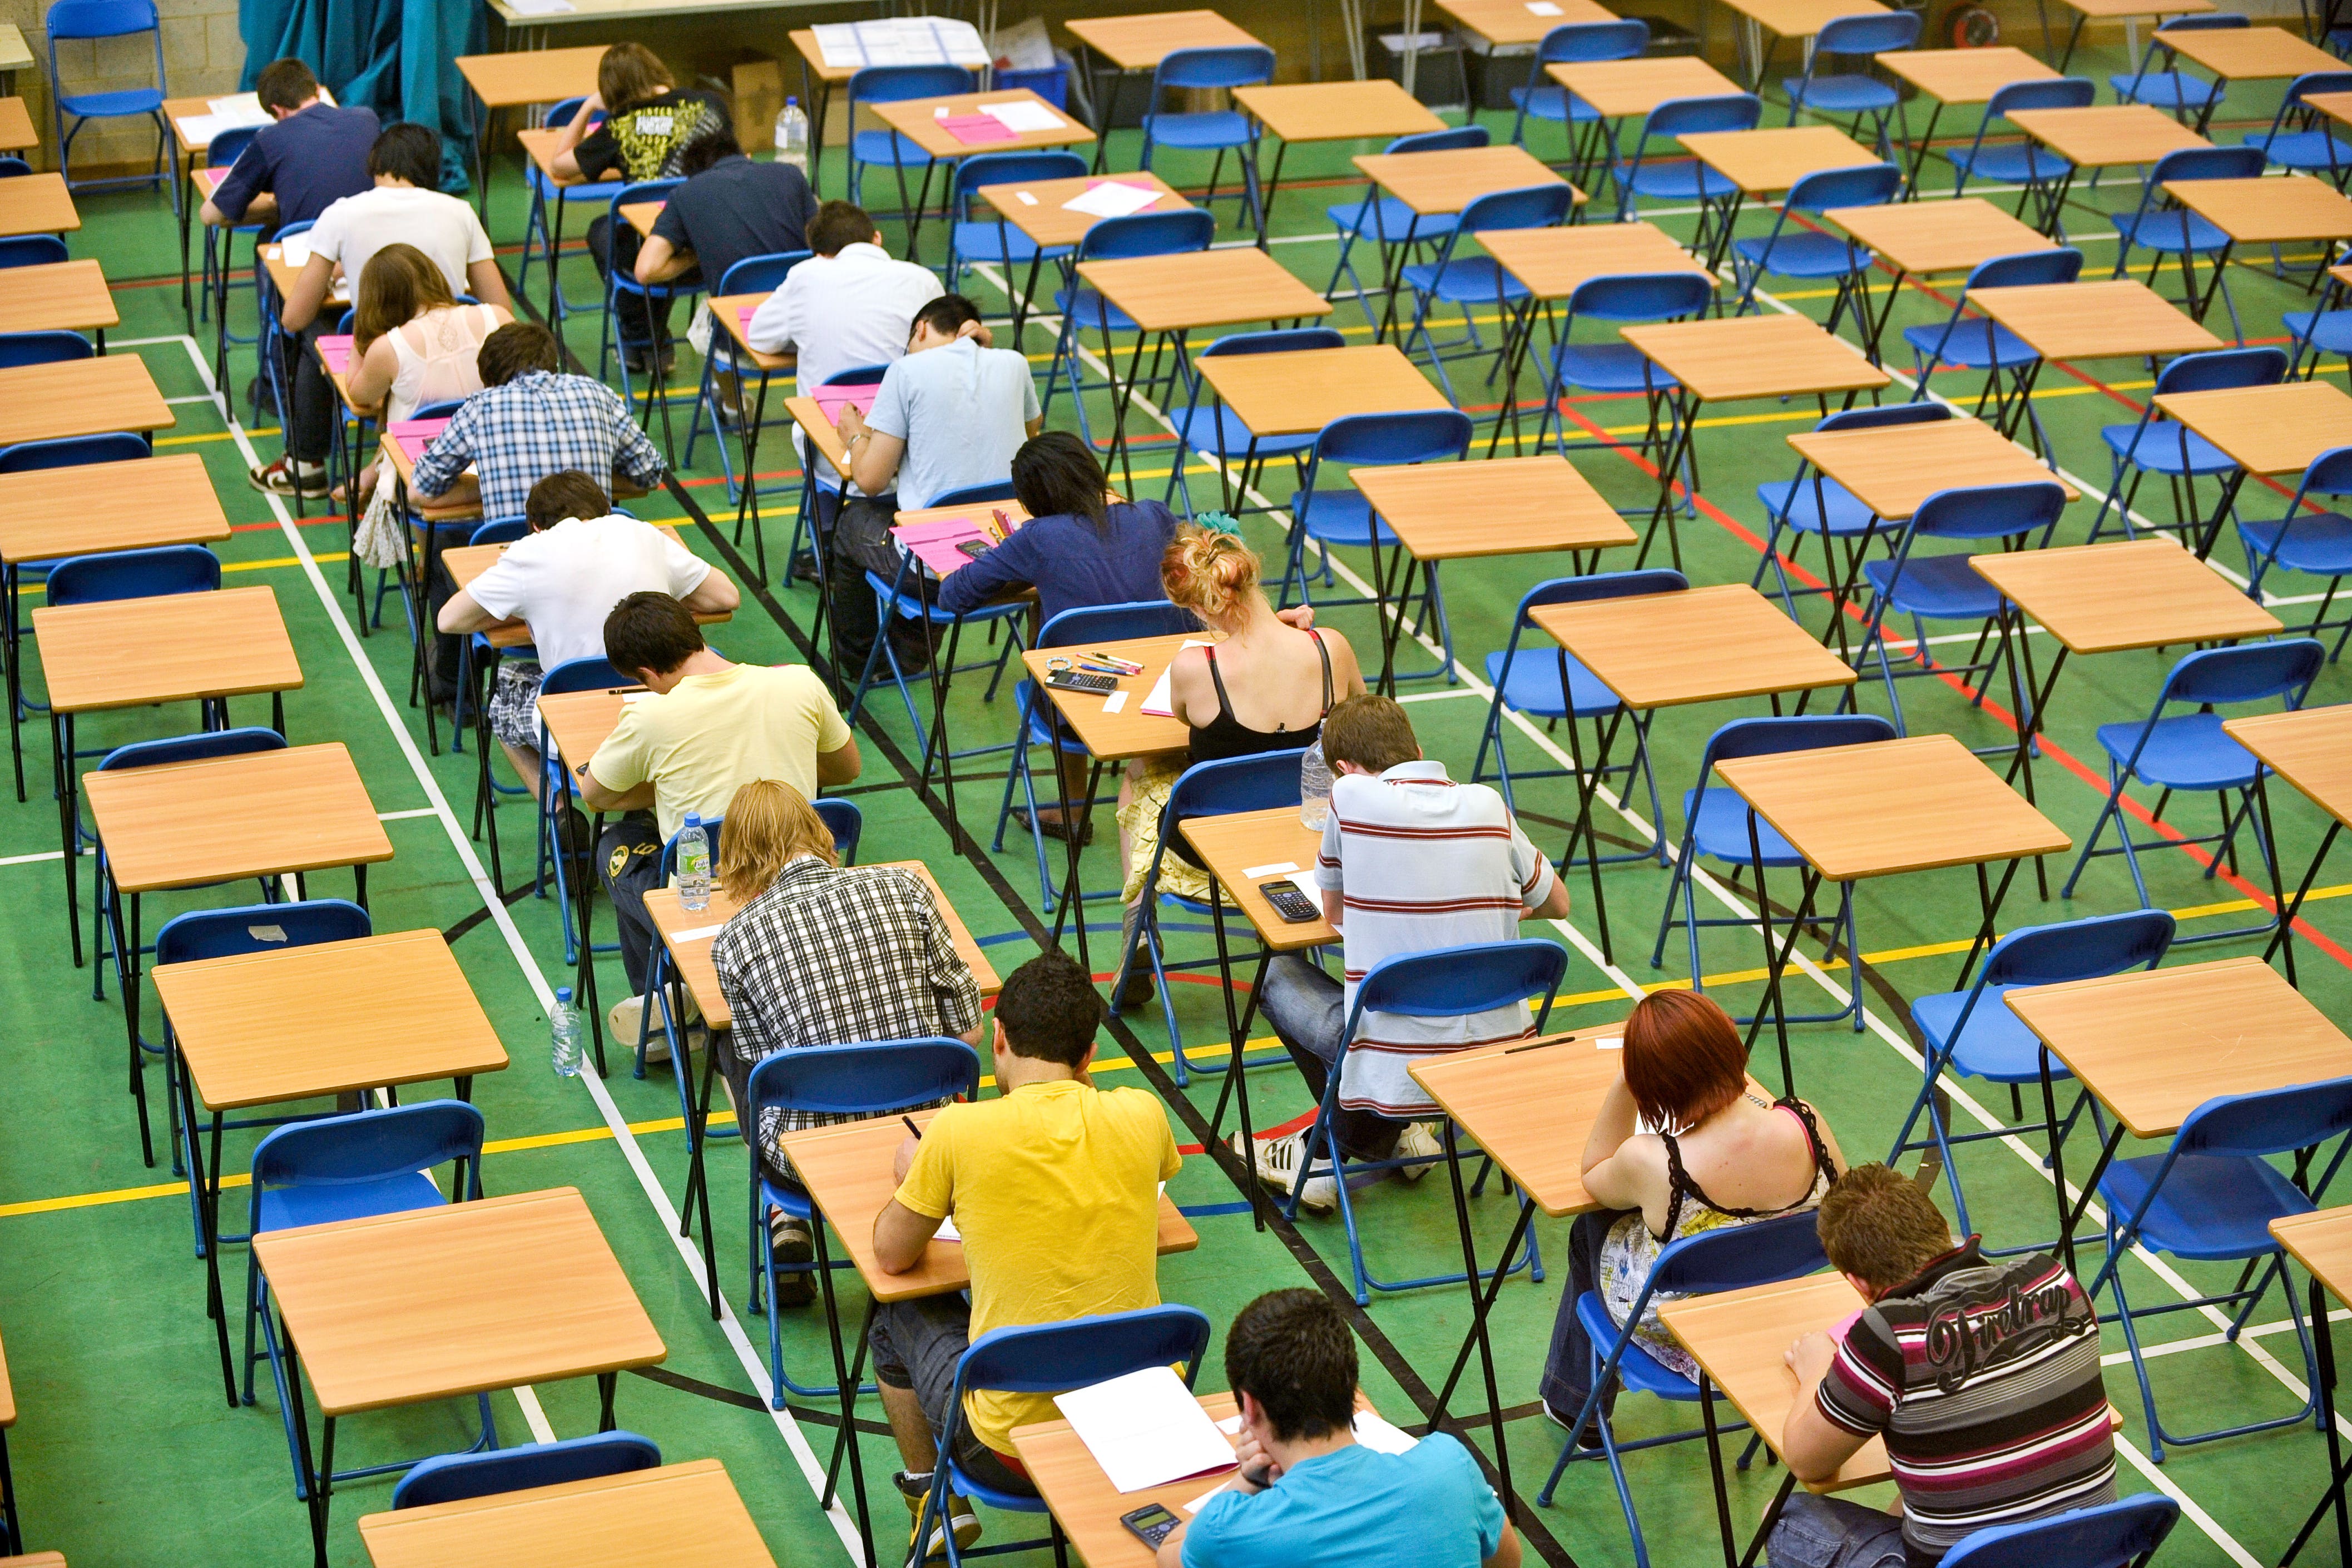
<path fill-rule="evenodd" d="M 1748 583 L 1541 604 L 1529 621 L 1635 710 L 1856 682 L 1844 658 Z"/>

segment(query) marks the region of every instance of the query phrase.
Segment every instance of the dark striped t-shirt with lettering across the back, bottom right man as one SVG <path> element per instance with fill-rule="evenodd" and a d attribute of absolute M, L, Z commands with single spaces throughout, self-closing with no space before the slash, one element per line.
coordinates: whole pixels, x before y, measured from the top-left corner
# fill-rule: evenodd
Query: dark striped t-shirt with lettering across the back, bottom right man
<path fill-rule="evenodd" d="M 2114 1497 L 2098 1316 L 2042 1253 L 1987 1260 L 1969 1237 L 1846 1328 L 1816 1403 L 1884 1434 L 1912 1568 L 1971 1530 Z"/>

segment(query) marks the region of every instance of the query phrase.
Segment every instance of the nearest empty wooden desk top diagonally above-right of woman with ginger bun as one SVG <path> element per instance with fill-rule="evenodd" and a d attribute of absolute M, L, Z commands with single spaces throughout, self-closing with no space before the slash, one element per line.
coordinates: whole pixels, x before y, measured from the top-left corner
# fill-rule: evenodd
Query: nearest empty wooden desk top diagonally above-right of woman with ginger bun
<path fill-rule="evenodd" d="M 1348 477 L 1421 562 L 1604 550 L 1639 538 L 1557 451 L 1484 463 L 1352 468 Z"/>

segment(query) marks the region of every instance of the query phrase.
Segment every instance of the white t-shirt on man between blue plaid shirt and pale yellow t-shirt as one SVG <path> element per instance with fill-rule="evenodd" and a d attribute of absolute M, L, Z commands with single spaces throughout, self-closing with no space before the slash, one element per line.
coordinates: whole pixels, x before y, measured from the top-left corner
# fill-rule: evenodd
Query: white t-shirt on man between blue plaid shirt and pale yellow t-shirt
<path fill-rule="evenodd" d="M 710 562 L 649 522 L 567 517 L 506 548 L 468 592 L 501 621 L 532 623 L 539 665 L 604 656 L 604 616 L 633 592 L 684 599 L 710 576 Z"/>

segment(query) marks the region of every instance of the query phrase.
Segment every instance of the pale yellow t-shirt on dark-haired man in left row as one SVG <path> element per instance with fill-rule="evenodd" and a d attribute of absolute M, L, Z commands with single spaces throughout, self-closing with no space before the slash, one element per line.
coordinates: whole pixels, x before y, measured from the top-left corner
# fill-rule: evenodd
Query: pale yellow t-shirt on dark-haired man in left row
<path fill-rule="evenodd" d="M 614 792 L 652 780 L 668 839 L 687 811 L 706 823 L 727 816 L 734 792 L 755 778 L 816 799 L 816 755 L 847 743 L 842 710 L 807 665 L 729 665 L 621 708 L 588 771 Z"/>

